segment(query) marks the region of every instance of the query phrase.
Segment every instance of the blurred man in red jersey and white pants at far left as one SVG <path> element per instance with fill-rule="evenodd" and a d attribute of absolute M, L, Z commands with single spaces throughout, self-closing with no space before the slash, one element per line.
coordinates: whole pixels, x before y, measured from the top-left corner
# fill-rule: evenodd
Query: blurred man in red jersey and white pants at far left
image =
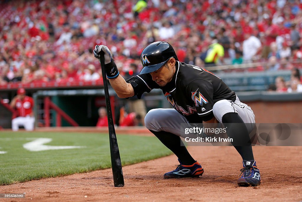
<path fill-rule="evenodd" d="M 17 95 L 12 99 L 10 106 L 18 110 L 18 117 L 11 120 L 12 130 L 18 131 L 19 126 L 23 126 L 26 131 L 33 131 L 35 123 L 34 99 L 25 95 L 24 88 L 18 89 Z"/>

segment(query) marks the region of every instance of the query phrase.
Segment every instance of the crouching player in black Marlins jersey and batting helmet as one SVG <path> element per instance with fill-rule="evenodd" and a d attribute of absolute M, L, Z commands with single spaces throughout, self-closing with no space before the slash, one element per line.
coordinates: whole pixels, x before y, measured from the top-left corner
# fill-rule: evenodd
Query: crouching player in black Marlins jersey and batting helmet
<path fill-rule="evenodd" d="M 243 159 L 238 185 L 260 184 L 249 138 L 251 128 L 246 125 L 255 123 L 255 115 L 220 78 L 203 68 L 179 62 L 169 43 L 157 41 L 143 50 L 140 74 L 125 81 L 107 46 L 96 45 L 95 57 L 100 58 L 101 51 L 104 52 L 107 78 L 120 98 L 135 95 L 141 98 L 144 92 L 159 88 L 174 108 L 152 109 L 145 117 L 146 127 L 178 157 L 180 163 L 174 171 L 165 173 L 164 178 L 198 177 L 204 173 L 186 147 L 181 146 L 180 137 L 185 137 L 181 123 L 190 126 L 190 123 L 205 125 L 218 121 L 234 139 L 232 144 Z"/>

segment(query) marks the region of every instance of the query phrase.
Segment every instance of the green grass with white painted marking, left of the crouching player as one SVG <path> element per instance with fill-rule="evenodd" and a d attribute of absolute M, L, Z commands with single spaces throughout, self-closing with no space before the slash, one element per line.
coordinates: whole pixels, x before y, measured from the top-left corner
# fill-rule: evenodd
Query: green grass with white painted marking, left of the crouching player
<path fill-rule="evenodd" d="M 28 139 L 31 138 L 31 139 Z M 45 145 L 85 146 L 79 149 L 28 151 L 34 138 L 52 138 Z M 122 165 L 167 156 L 156 137 L 117 135 Z M 108 134 L 62 132 L 0 132 L 0 185 L 64 176 L 111 167 Z"/>

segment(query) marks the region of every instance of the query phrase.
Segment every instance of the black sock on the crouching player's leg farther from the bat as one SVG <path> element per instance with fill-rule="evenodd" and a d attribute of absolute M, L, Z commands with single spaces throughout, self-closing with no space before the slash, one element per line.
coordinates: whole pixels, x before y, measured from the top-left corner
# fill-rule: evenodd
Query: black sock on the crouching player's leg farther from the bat
<path fill-rule="evenodd" d="M 226 127 L 226 134 L 233 138 L 233 146 L 243 160 L 254 160 L 249 132 L 242 118 L 237 113 L 226 113 L 222 117 L 222 123 Z"/>

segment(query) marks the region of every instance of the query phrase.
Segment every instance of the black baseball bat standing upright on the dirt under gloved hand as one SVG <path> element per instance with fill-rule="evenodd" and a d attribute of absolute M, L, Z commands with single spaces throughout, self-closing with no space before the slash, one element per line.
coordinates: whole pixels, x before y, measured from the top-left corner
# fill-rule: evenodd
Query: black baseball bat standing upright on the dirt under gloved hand
<path fill-rule="evenodd" d="M 117 138 L 116 138 L 114 124 L 113 124 L 110 98 L 109 98 L 109 92 L 108 92 L 107 77 L 106 77 L 106 72 L 105 72 L 105 59 L 104 59 L 103 51 L 101 51 L 100 56 L 101 56 L 100 63 L 101 63 L 101 68 L 102 68 L 102 76 L 103 76 L 103 83 L 104 83 L 106 108 L 107 108 L 113 183 L 114 183 L 114 187 L 124 187 L 124 176 L 123 176 L 123 170 L 122 170 L 122 163 L 120 161 L 120 151 L 118 149 Z"/>

